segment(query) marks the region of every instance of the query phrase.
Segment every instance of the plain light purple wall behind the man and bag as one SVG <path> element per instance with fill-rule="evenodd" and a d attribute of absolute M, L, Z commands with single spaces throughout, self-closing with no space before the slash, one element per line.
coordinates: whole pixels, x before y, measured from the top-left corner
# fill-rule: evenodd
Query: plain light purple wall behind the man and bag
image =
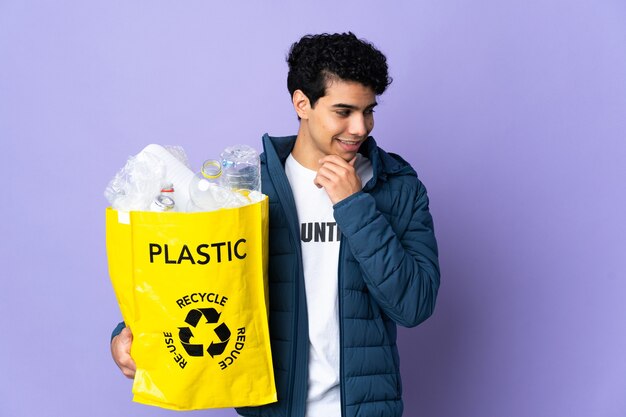
<path fill-rule="evenodd" d="M 0 415 L 177 415 L 110 359 L 104 187 L 151 142 L 295 133 L 288 47 L 345 30 L 388 56 L 373 134 L 440 242 L 405 415 L 626 415 L 624 1 L 237 3 L 0 0 Z"/>

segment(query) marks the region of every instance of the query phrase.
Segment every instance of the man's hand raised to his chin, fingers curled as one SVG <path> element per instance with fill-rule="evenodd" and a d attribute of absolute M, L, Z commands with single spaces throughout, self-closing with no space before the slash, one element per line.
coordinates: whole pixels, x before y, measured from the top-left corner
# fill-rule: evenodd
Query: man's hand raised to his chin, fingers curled
<path fill-rule="evenodd" d="M 326 155 L 320 159 L 321 166 L 313 182 L 320 188 L 324 187 L 333 204 L 361 191 L 361 179 L 354 169 L 355 162 L 356 156 L 349 162 L 338 155 Z"/>

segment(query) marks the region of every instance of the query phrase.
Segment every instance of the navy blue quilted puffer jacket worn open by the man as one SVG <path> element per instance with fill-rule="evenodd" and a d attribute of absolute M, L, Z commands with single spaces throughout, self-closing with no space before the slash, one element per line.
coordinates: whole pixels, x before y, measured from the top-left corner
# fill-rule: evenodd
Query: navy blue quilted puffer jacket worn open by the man
<path fill-rule="evenodd" d="M 295 137 L 263 137 L 263 192 L 270 201 L 270 335 L 278 402 L 241 408 L 245 416 L 303 417 L 308 319 L 297 213 L 284 163 Z M 342 234 L 339 323 L 343 417 L 402 415 L 396 324 L 412 327 L 433 312 L 439 288 L 437 243 L 426 189 L 413 168 L 361 146 L 374 177 L 334 206 Z M 323 307 L 323 306 L 320 306 Z M 335 417 L 335 416 L 328 416 Z M 338 417 L 338 416 L 337 416 Z"/>

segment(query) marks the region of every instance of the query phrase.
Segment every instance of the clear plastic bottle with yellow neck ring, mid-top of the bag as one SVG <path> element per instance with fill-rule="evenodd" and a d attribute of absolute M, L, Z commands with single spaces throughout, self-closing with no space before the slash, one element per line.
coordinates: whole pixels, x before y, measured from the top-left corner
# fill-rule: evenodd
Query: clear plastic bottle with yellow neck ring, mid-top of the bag
<path fill-rule="evenodd" d="M 189 183 L 191 204 L 187 211 L 212 211 L 228 207 L 232 192 L 221 184 L 222 166 L 220 161 L 204 161 L 202 169 Z"/>

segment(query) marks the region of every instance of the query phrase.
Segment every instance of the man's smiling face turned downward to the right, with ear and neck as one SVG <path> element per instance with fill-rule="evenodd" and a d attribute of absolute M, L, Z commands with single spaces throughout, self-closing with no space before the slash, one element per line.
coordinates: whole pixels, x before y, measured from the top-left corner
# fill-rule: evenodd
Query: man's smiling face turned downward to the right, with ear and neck
<path fill-rule="evenodd" d="M 376 95 L 358 82 L 329 80 L 326 94 L 314 107 L 296 90 L 293 104 L 300 129 L 292 155 L 309 169 L 317 170 L 319 159 L 326 155 L 350 161 L 374 128 Z"/>

